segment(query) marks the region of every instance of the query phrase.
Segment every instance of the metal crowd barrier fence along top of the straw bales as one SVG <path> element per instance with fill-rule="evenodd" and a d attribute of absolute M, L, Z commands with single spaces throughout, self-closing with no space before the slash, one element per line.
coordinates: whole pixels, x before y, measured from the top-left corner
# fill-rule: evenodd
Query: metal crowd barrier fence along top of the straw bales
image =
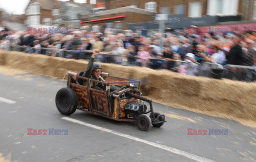
<path fill-rule="evenodd" d="M 20 51 L 25 53 L 37 53 L 49 56 L 58 56 L 61 58 L 68 59 L 90 59 L 91 52 L 87 51 L 74 51 L 74 50 L 62 50 L 58 48 L 43 48 L 43 47 L 30 47 L 30 46 L 13 46 L 10 48 L 11 51 Z M 179 72 L 180 74 L 186 74 L 191 76 L 205 76 L 212 77 L 214 72 L 212 68 L 221 67 L 223 72 L 220 74 L 221 77 L 239 80 L 244 82 L 254 82 L 256 80 L 256 67 L 248 66 L 236 66 L 226 64 L 222 67 L 220 64 L 211 62 L 187 62 L 181 60 L 167 61 L 166 59 L 155 59 L 155 58 L 140 58 L 139 56 L 130 55 L 118 55 L 111 53 L 102 53 L 97 55 L 95 62 L 104 63 L 116 63 L 124 66 L 141 66 L 149 67 L 151 69 L 168 69 L 171 71 Z M 216 74 L 215 74 L 216 75 Z"/>

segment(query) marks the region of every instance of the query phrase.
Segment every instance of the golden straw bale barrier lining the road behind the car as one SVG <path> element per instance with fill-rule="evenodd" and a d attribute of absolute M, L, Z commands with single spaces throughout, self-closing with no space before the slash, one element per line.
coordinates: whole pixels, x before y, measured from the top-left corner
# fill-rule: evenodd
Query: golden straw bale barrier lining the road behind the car
<path fill-rule="evenodd" d="M 63 79 L 67 70 L 83 71 L 87 61 L 0 50 L 0 65 Z M 191 111 L 256 122 L 256 84 L 181 75 L 168 70 L 101 63 L 104 72 L 148 79 L 142 92 L 153 101 Z M 65 77 L 65 79 L 67 76 Z"/>

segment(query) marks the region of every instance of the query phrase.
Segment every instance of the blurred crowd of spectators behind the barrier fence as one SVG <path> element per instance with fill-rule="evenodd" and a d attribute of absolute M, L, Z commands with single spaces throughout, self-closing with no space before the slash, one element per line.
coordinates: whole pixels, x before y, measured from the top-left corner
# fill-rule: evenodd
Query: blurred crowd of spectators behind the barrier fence
<path fill-rule="evenodd" d="M 87 60 L 91 50 L 99 49 L 97 61 L 142 66 L 153 69 L 163 68 L 180 73 L 196 75 L 198 63 L 210 68 L 205 62 L 254 66 L 256 34 L 234 33 L 189 34 L 186 29 L 170 31 L 162 36 L 145 28 L 125 36 L 111 31 L 87 31 L 69 29 L 67 34 L 28 34 L 27 31 L 0 32 L 0 49 L 19 51 L 30 47 L 37 54 L 62 56 L 68 59 Z M 179 66 L 179 61 L 188 64 Z M 176 63 L 175 63 L 176 62 Z M 178 63 L 177 63 L 178 62 Z"/>

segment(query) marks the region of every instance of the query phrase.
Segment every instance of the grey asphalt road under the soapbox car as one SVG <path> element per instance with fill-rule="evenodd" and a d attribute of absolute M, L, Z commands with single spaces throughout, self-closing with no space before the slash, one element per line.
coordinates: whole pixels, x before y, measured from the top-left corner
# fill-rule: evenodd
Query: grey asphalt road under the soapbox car
<path fill-rule="evenodd" d="M 158 103 L 154 110 L 167 123 L 147 132 L 81 110 L 63 116 L 54 100 L 65 81 L 3 71 L 0 153 L 13 161 L 256 161 L 255 128 Z M 47 135 L 28 135 L 28 128 L 47 129 Z M 52 128 L 66 129 L 66 135 L 49 135 Z M 207 129 L 207 135 L 188 135 L 188 128 Z M 226 129 L 226 135 L 210 135 L 212 128 Z"/>

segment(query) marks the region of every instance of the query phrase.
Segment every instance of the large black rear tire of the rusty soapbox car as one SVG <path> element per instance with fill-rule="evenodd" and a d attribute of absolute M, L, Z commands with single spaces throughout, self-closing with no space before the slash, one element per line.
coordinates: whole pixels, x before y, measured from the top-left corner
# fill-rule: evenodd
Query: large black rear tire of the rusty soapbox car
<path fill-rule="evenodd" d="M 55 103 L 61 114 L 71 115 L 78 105 L 76 93 L 71 88 L 61 88 L 56 94 Z"/>

